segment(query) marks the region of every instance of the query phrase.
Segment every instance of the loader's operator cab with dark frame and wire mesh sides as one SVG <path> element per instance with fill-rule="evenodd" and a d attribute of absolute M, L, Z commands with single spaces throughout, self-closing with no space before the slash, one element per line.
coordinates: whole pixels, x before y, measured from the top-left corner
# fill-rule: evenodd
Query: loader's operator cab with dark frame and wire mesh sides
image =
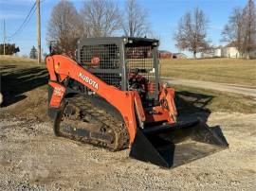
<path fill-rule="evenodd" d="M 137 90 L 142 103 L 158 99 L 158 41 L 147 38 L 85 38 L 78 44 L 78 62 L 120 90 Z"/>

